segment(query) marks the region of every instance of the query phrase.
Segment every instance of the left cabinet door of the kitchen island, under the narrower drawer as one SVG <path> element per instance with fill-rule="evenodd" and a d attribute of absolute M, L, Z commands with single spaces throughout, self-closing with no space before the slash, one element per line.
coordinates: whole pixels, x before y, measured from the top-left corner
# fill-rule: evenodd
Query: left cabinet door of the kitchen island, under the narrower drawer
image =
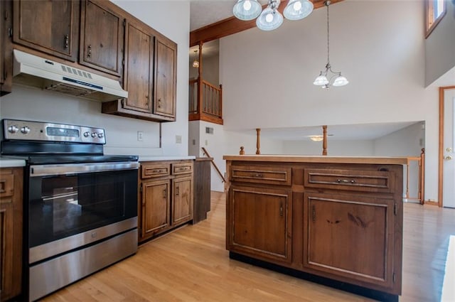
<path fill-rule="evenodd" d="M 231 185 L 228 249 L 277 263 L 291 261 L 291 190 Z"/>

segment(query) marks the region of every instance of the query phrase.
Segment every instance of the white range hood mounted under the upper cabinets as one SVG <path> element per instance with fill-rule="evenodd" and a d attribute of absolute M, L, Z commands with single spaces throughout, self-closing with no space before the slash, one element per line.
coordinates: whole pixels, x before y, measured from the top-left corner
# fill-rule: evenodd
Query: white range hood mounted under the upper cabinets
<path fill-rule="evenodd" d="M 36 55 L 14 52 L 13 81 L 43 90 L 95 99 L 101 102 L 128 97 L 119 82 L 92 72 L 80 70 Z"/>

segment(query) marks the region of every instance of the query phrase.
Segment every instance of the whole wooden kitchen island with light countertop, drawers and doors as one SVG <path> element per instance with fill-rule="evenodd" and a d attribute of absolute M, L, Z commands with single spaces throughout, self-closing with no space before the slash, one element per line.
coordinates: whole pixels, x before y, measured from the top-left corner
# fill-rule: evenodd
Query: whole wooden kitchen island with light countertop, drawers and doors
<path fill-rule="evenodd" d="M 223 158 L 232 259 L 398 300 L 406 158 Z"/>

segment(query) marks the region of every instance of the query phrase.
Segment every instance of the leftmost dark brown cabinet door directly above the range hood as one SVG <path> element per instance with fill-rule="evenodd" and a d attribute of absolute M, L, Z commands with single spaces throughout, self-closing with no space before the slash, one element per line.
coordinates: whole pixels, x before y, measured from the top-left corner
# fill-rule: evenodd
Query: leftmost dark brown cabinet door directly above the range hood
<path fill-rule="evenodd" d="M 14 43 L 75 62 L 79 1 L 14 1 Z"/>

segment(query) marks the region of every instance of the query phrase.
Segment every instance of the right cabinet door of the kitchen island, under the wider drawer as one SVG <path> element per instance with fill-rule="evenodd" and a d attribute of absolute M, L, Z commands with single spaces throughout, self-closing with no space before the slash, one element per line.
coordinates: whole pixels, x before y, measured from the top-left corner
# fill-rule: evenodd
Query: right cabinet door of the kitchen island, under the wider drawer
<path fill-rule="evenodd" d="M 394 221 L 392 198 L 305 193 L 304 266 L 321 276 L 397 293 Z"/>

